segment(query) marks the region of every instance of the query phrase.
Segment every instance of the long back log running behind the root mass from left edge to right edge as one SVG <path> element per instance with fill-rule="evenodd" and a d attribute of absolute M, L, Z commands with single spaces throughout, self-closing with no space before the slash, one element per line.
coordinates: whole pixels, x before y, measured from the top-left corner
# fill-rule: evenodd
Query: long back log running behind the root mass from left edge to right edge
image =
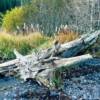
<path fill-rule="evenodd" d="M 55 51 L 55 54 L 53 54 L 53 56 L 59 55 L 61 57 L 66 57 L 66 58 L 76 56 L 82 50 L 87 49 L 88 47 L 93 45 L 96 42 L 99 35 L 100 35 L 100 30 L 83 35 L 79 39 L 62 44 L 60 46 L 58 44 L 58 48 L 55 48 L 55 46 L 53 46 L 52 48 L 45 50 L 44 53 L 40 52 L 39 54 L 41 54 L 41 56 L 39 59 L 46 59 L 50 57 L 54 53 L 54 51 Z M 55 50 L 55 49 L 58 49 L 58 50 Z M 36 59 L 35 56 L 36 55 L 34 54 L 30 54 L 30 55 L 25 56 L 25 58 Z M 19 59 L 11 60 L 11 61 L 0 64 L 0 67 L 12 66 L 12 65 L 17 64 L 18 62 L 19 62 Z"/>

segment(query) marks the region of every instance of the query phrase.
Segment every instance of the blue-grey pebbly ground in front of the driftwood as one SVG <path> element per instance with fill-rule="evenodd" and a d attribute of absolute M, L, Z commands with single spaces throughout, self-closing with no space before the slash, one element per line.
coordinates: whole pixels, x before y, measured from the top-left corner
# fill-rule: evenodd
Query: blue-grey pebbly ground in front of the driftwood
<path fill-rule="evenodd" d="M 1 77 L 0 100 L 99 100 L 99 66 L 81 67 L 62 73 L 63 84 L 54 90 L 32 80 L 23 82 L 14 77 Z"/>

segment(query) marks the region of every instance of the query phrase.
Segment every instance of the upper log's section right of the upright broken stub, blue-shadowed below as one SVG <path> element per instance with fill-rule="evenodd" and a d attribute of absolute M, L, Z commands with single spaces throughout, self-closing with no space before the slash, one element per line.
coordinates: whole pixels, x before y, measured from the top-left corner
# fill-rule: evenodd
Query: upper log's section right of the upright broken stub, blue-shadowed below
<path fill-rule="evenodd" d="M 78 53 L 86 50 L 91 45 L 93 45 L 97 41 L 99 35 L 100 31 L 83 35 L 80 39 L 76 39 L 74 41 L 61 45 L 59 52 L 62 52 L 62 57 L 76 56 Z"/>

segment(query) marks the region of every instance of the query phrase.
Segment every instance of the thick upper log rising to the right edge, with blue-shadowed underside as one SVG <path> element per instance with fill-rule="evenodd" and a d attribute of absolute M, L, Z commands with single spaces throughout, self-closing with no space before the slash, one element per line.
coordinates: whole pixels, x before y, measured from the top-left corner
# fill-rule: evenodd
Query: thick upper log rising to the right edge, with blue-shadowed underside
<path fill-rule="evenodd" d="M 48 58 L 52 55 L 53 52 L 55 52 L 54 56 L 59 55 L 63 58 L 76 56 L 78 53 L 82 52 L 83 50 L 86 50 L 91 45 L 93 45 L 97 41 L 99 35 L 100 30 L 86 35 L 82 35 L 79 39 L 73 40 L 62 45 L 58 43 L 56 46 L 54 45 L 52 48 L 50 48 L 49 51 L 47 50 L 41 58 Z"/>

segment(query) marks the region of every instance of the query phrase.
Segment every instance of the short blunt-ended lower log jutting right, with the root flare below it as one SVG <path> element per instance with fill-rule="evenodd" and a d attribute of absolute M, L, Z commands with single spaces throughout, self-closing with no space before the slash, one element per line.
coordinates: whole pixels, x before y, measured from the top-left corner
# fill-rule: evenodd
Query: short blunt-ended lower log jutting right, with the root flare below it
<path fill-rule="evenodd" d="M 48 87 L 52 87 L 53 83 L 52 83 L 52 78 L 53 78 L 53 72 L 56 69 L 60 69 L 62 67 L 64 68 L 72 68 L 73 65 L 80 65 L 84 62 L 87 62 L 88 60 L 93 59 L 91 55 L 86 54 L 86 55 L 82 55 L 82 56 L 77 56 L 77 57 L 72 57 L 72 58 L 64 58 L 64 59 L 60 59 L 60 60 L 55 60 L 55 66 L 51 65 L 51 64 L 46 64 L 46 66 L 48 66 L 48 68 L 44 68 L 43 71 L 38 72 L 36 75 L 36 80 L 38 80 L 39 82 L 43 83 L 45 86 Z M 59 77 L 59 76 L 58 76 Z"/>

